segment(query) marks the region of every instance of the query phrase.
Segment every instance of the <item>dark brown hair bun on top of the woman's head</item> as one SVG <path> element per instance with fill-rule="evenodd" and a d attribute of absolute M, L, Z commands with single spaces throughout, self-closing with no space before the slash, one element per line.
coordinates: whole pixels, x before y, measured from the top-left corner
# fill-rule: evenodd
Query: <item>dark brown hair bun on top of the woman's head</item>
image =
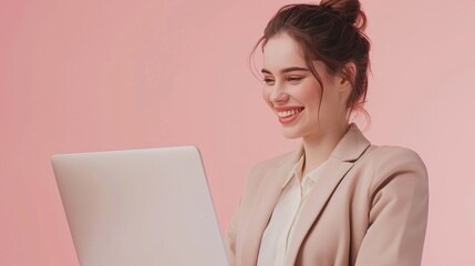
<path fill-rule="evenodd" d="M 364 30 L 366 25 L 366 17 L 361 11 L 361 3 L 359 0 L 321 0 L 320 6 L 338 12 L 339 16 L 359 30 Z"/>

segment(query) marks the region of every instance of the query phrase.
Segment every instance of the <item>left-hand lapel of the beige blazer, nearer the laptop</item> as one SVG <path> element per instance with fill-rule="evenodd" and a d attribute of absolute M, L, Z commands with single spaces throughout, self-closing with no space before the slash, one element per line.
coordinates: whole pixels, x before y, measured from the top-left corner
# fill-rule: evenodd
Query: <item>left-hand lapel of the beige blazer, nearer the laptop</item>
<path fill-rule="evenodd" d="M 241 265 L 257 265 L 260 241 L 264 231 L 282 192 L 290 171 L 298 161 L 300 153 L 289 155 L 282 164 L 268 170 L 259 185 L 257 197 L 251 211 L 251 219 L 246 226 L 246 246 L 242 248 Z"/>

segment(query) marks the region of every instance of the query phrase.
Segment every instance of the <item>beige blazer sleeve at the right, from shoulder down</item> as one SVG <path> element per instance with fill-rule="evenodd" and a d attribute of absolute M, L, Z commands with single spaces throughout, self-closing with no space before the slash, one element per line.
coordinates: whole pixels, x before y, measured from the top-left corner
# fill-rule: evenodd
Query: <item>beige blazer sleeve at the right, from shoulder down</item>
<path fill-rule="evenodd" d="M 370 225 L 355 265 L 421 265 L 428 185 L 419 155 L 402 147 L 382 149 L 369 198 Z"/>

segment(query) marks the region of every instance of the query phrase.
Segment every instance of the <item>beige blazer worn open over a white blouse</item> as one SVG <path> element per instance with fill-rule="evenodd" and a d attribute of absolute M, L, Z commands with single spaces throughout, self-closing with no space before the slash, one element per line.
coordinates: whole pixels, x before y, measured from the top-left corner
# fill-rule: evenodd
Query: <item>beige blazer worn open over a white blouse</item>
<path fill-rule="evenodd" d="M 260 239 L 301 151 L 257 164 L 227 232 L 231 265 L 257 264 Z M 295 224 L 286 265 L 421 265 L 427 173 L 411 150 L 374 146 L 352 124 Z"/>

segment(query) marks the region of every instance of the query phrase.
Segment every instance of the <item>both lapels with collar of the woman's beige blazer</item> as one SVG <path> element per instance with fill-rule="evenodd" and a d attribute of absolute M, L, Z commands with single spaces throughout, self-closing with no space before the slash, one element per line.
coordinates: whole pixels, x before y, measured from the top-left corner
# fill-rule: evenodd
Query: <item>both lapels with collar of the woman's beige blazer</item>
<path fill-rule="evenodd" d="M 302 212 L 297 224 L 291 249 L 289 250 L 288 265 L 293 265 L 298 255 L 298 250 L 304 236 L 317 221 L 324 204 L 330 198 L 333 191 L 337 188 L 345 173 L 353 166 L 364 151 L 370 146 L 370 142 L 363 136 L 355 124 L 350 124 L 350 129 L 337 147 L 331 153 L 329 160 L 322 165 L 321 177 L 314 184 L 317 190 L 309 194 L 306 205 L 302 206 Z M 269 223 L 272 211 L 280 197 L 282 187 L 288 180 L 288 175 L 296 165 L 303 152 L 303 147 L 291 153 L 282 158 L 276 167 L 269 168 L 262 176 L 262 182 L 257 192 L 251 219 L 246 226 L 245 242 L 242 254 L 242 265 L 256 265 L 258 252 L 260 248 L 260 239 L 264 231 Z"/>

